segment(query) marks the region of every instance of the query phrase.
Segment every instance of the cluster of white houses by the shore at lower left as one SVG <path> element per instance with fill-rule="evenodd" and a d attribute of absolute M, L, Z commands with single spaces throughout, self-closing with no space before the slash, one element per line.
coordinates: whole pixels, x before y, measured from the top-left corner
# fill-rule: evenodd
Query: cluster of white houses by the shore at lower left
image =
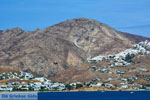
<path fill-rule="evenodd" d="M 0 83 L 0 91 L 39 91 L 39 90 L 64 90 L 65 85 L 58 82 L 51 82 L 45 77 L 34 77 L 30 73 L 1 73 L 0 80 L 5 80 L 5 84 Z"/>

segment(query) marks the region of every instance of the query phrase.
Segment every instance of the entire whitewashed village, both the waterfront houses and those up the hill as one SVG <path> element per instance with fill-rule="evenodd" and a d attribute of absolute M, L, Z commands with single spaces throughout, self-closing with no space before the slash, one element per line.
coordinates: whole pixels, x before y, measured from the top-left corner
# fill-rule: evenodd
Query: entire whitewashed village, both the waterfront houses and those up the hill
<path fill-rule="evenodd" d="M 45 77 L 35 77 L 27 72 L 10 72 L 0 74 L 0 91 L 68 91 L 80 88 L 96 87 L 97 90 L 150 90 L 150 84 L 144 85 L 138 82 L 138 76 L 122 77 L 127 72 L 119 70 L 132 64 L 132 59 L 137 55 L 150 54 L 150 42 L 143 41 L 133 45 L 130 49 L 120 52 L 115 55 L 97 56 L 88 59 L 88 63 L 96 64 L 103 61 L 108 62 L 108 66 L 89 66 L 93 71 L 113 74 L 116 73 L 118 78 L 109 77 L 103 81 L 101 78 L 92 79 L 90 82 L 69 83 L 52 82 Z M 111 70 L 113 69 L 113 71 Z M 149 69 L 138 68 L 139 72 L 150 73 Z M 129 70 L 134 72 L 134 70 Z M 150 76 L 145 76 L 144 80 L 150 83 Z M 116 83 L 115 83 L 116 82 Z M 118 83 L 117 83 L 118 82 Z M 137 82 L 137 83 L 136 83 Z"/>

